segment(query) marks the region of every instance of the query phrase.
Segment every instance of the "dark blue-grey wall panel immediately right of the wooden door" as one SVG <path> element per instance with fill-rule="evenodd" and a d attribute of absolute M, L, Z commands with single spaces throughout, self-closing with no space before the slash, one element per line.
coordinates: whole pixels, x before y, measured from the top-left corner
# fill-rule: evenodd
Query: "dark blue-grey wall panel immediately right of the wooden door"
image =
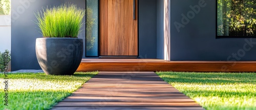
<path fill-rule="evenodd" d="M 140 58 L 156 58 L 156 1 L 139 0 Z"/>

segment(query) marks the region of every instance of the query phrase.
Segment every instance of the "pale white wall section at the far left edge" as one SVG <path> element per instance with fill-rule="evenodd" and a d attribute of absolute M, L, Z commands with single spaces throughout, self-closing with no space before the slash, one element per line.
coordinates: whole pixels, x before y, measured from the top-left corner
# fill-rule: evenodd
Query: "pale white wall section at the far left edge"
<path fill-rule="evenodd" d="M 0 52 L 11 51 L 11 16 L 0 15 Z"/>

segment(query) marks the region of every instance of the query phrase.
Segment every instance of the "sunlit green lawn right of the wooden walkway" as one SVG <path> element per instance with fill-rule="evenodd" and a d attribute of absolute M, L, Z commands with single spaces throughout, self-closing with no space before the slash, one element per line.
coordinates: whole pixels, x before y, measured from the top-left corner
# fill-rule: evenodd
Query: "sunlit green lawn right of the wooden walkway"
<path fill-rule="evenodd" d="M 205 109 L 256 109 L 256 73 L 157 74 Z"/>

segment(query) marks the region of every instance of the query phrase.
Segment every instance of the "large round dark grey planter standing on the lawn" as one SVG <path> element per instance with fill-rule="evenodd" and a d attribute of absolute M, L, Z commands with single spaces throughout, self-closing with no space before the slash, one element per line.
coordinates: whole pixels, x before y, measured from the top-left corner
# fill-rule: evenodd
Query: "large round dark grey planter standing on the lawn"
<path fill-rule="evenodd" d="M 83 55 L 80 38 L 37 38 L 36 57 L 47 75 L 73 75 Z"/>

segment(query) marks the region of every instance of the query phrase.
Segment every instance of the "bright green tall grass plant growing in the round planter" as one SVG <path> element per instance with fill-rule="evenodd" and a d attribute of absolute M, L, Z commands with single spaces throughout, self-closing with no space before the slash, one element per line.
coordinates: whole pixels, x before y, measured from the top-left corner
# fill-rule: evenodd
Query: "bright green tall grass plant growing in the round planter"
<path fill-rule="evenodd" d="M 35 13 L 43 37 L 77 38 L 86 11 L 73 4 L 43 8 Z"/>

